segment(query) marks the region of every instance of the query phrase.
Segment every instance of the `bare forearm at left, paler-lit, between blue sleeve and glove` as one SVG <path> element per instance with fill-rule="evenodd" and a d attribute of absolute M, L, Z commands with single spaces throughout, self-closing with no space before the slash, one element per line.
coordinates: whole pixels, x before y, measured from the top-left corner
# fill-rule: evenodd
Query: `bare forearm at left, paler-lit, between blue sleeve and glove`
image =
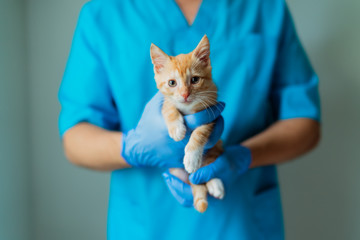
<path fill-rule="evenodd" d="M 65 155 L 71 163 L 94 170 L 127 168 L 121 157 L 121 138 L 121 132 L 79 123 L 64 134 Z"/>

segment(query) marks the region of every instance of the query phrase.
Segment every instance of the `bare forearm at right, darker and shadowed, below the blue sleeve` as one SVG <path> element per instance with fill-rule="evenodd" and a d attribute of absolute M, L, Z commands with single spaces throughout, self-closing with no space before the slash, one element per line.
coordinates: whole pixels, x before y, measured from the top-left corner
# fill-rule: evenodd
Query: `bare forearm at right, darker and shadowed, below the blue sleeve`
<path fill-rule="evenodd" d="M 294 159 L 313 149 L 320 139 L 320 124 L 307 118 L 274 123 L 265 131 L 244 141 L 252 154 L 251 168 Z"/>

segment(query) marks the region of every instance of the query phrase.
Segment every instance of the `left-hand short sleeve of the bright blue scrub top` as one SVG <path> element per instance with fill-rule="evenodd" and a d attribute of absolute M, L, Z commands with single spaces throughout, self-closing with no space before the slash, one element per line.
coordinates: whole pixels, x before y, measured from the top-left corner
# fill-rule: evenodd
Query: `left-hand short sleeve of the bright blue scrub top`
<path fill-rule="evenodd" d="M 61 137 L 80 122 L 109 130 L 119 127 L 116 106 L 101 61 L 101 28 L 90 4 L 84 5 L 80 12 L 59 90 Z"/>

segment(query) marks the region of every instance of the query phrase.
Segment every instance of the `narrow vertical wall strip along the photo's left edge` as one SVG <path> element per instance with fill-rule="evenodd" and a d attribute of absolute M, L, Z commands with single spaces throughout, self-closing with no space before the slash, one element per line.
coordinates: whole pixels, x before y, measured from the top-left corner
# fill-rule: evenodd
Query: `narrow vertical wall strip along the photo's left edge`
<path fill-rule="evenodd" d="M 25 7 L 0 0 L 0 239 L 29 236 Z"/>

